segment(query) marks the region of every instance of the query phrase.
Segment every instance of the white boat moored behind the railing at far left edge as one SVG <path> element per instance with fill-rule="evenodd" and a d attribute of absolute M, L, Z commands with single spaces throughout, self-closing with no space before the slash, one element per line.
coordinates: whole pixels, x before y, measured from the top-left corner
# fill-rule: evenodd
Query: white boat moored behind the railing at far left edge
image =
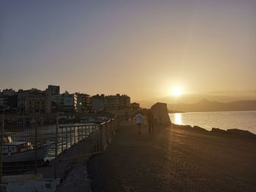
<path fill-rule="evenodd" d="M 48 154 L 49 145 L 34 149 L 31 142 L 12 142 L 10 136 L 4 136 L 3 163 L 44 160 Z M 37 153 L 36 153 L 37 151 Z"/>

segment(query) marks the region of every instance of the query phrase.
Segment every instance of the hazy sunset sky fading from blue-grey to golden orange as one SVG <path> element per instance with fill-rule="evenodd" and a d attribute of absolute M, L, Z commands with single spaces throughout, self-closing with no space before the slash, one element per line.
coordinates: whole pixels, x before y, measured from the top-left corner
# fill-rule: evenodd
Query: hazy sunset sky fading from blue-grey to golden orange
<path fill-rule="evenodd" d="M 255 0 L 0 0 L 0 89 L 256 91 Z"/>

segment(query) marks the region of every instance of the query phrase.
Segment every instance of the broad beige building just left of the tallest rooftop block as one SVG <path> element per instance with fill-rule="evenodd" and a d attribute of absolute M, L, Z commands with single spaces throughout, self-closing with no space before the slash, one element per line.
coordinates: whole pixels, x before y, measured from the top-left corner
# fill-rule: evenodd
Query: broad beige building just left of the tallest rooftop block
<path fill-rule="evenodd" d="M 34 115 L 45 113 L 45 92 L 36 88 L 18 91 L 18 113 Z"/>

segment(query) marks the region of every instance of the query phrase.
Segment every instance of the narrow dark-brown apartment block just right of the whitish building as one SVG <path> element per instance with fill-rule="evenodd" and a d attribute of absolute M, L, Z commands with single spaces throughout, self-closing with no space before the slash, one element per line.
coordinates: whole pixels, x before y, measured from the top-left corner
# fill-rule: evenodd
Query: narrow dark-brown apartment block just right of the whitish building
<path fill-rule="evenodd" d="M 75 93 L 77 98 L 76 111 L 89 112 L 91 111 L 91 97 L 84 93 Z"/>

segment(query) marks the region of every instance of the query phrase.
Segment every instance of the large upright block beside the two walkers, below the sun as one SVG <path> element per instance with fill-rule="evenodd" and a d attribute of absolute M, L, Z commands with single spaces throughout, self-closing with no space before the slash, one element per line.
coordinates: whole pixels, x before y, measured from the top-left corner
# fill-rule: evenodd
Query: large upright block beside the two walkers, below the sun
<path fill-rule="evenodd" d="M 154 118 L 159 125 L 170 126 L 170 117 L 168 115 L 167 104 L 157 103 L 151 107 Z"/>

